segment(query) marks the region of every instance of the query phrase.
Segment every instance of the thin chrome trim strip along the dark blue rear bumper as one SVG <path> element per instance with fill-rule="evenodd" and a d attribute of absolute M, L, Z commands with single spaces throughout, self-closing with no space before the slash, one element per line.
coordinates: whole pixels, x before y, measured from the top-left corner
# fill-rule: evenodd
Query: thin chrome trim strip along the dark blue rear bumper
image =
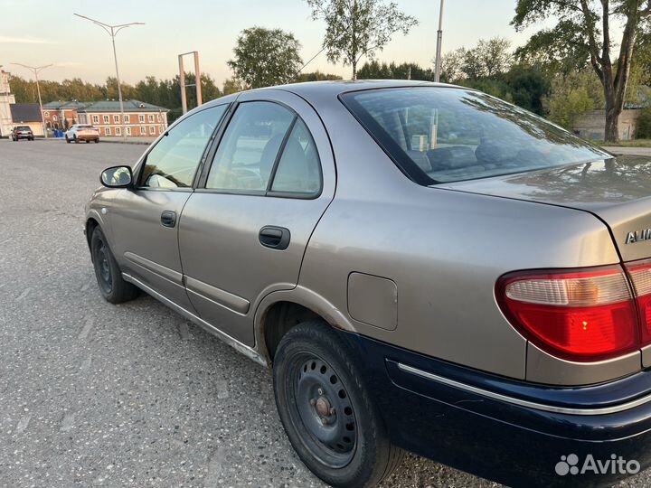
<path fill-rule="evenodd" d="M 463 389 L 464 391 L 476 393 L 477 395 L 482 395 L 489 399 L 505 401 L 507 403 L 512 403 L 520 407 L 535 408 L 537 410 L 544 410 L 546 412 L 554 412 L 554 413 L 561 413 L 561 414 L 568 414 L 568 415 L 608 415 L 608 414 L 628 410 L 630 408 L 636 408 L 639 407 L 640 405 L 644 405 L 649 401 L 651 401 L 651 395 L 646 395 L 639 399 L 634 399 L 632 401 L 621 403 L 619 405 L 614 405 L 612 407 L 601 407 L 601 408 L 557 407 L 555 405 L 546 405 L 543 403 L 537 403 L 534 401 L 529 401 L 524 399 L 514 399 L 513 397 L 502 395 L 501 393 L 495 393 L 495 391 L 489 391 L 487 389 L 477 388 L 471 385 L 467 385 L 466 383 L 461 383 L 457 380 L 450 380 L 449 378 L 444 378 L 442 376 L 439 376 L 438 374 L 430 373 L 429 371 L 422 371 L 419 370 L 418 368 L 413 368 L 412 366 L 408 366 L 401 362 L 398 363 L 398 369 L 401 371 L 408 372 L 410 374 L 414 374 L 416 376 L 420 376 L 421 378 L 425 378 L 427 380 L 432 380 L 438 383 L 442 383 L 444 385 L 453 388 Z"/>

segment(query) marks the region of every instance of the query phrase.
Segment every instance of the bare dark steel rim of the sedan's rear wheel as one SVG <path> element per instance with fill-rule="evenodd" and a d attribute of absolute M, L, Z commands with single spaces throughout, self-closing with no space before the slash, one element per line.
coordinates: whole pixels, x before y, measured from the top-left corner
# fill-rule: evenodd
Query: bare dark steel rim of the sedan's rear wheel
<path fill-rule="evenodd" d="M 353 460 L 357 421 L 348 389 L 335 369 L 311 352 L 290 362 L 289 417 L 301 441 L 320 463 L 342 468 Z"/>

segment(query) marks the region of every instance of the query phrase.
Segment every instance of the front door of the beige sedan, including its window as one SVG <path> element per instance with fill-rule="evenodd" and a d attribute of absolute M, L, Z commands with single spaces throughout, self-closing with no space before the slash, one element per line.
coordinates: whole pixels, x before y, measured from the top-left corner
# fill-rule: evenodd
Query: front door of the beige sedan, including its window
<path fill-rule="evenodd" d="M 121 190 L 109 209 L 112 246 L 123 271 L 190 311 L 178 221 L 193 192 L 205 148 L 227 107 L 205 108 L 170 128 L 138 166 L 136 188 Z"/>

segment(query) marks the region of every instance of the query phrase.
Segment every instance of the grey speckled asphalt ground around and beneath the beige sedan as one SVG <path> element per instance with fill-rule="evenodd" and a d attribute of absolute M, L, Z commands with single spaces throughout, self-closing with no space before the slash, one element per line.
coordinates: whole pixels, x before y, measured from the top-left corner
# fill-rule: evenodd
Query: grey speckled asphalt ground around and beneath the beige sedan
<path fill-rule="evenodd" d="M 144 149 L 0 141 L 0 486 L 324 486 L 269 371 L 151 297 L 99 296 L 84 203 Z M 448 486 L 498 485 L 415 455 L 383 484 Z"/>

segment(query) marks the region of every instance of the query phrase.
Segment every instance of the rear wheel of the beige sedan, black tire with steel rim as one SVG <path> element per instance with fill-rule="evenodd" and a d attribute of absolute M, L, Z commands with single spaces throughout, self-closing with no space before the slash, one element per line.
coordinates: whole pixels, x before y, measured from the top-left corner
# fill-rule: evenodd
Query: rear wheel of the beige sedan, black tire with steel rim
<path fill-rule="evenodd" d="M 375 486 L 401 464 L 349 347 L 328 324 L 289 330 L 274 358 L 274 393 L 289 442 L 335 488 Z M 329 412 L 329 413 L 326 413 Z"/>

